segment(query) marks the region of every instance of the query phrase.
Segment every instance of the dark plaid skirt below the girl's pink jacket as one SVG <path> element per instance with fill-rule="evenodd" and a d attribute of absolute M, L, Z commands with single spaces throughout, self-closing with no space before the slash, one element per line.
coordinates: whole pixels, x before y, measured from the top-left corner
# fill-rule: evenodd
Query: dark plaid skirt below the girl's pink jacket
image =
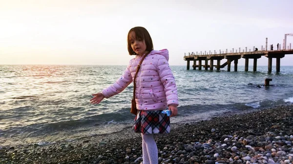
<path fill-rule="evenodd" d="M 143 134 L 167 134 L 170 133 L 170 117 L 157 111 L 139 110 L 135 119 L 133 128 L 136 133 Z"/>

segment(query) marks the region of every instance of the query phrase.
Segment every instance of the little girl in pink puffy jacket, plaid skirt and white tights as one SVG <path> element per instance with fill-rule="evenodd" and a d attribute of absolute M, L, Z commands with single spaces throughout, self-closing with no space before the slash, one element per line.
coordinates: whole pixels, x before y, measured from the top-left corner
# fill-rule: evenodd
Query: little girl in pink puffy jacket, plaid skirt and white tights
<path fill-rule="evenodd" d="M 122 92 L 133 81 L 137 65 L 147 55 L 135 80 L 138 113 L 133 129 L 142 134 L 143 163 L 158 164 L 158 148 L 153 134 L 170 132 L 170 118 L 162 110 L 168 108 L 173 117 L 177 115 L 178 106 L 177 88 L 168 64 L 168 50 L 153 50 L 151 37 L 144 27 L 129 30 L 127 45 L 129 55 L 135 57 L 129 61 L 122 76 L 101 93 L 92 94 L 94 97 L 90 102 L 98 104 L 104 98 Z"/>

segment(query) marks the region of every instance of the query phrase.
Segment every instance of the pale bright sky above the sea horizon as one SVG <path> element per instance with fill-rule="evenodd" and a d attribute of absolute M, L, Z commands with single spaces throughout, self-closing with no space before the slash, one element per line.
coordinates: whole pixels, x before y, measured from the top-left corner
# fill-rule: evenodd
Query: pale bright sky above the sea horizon
<path fill-rule="evenodd" d="M 260 49 L 266 38 L 276 48 L 293 33 L 292 6 L 293 0 L 0 0 L 0 64 L 127 65 L 127 33 L 135 26 L 148 30 L 154 49 L 169 50 L 170 65 L 186 65 L 188 52 Z M 293 48 L 293 36 L 289 43 Z M 281 66 L 293 66 L 293 54 Z"/>

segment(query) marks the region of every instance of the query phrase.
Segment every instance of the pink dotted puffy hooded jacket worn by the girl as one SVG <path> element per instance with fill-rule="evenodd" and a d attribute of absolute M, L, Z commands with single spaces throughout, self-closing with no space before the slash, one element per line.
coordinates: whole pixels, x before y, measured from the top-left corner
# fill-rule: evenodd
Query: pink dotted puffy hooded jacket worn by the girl
<path fill-rule="evenodd" d="M 105 98 L 122 92 L 134 79 L 137 65 L 142 57 L 136 55 L 122 76 L 102 91 Z M 178 106 L 175 79 L 168 64 L 167 49 L 152 50 L 143 61 L 136 77 L 136 107 L 139 110 L 165 109 L 169 105 Z M 131 97 L 129 97 L 129 100 Z"/>

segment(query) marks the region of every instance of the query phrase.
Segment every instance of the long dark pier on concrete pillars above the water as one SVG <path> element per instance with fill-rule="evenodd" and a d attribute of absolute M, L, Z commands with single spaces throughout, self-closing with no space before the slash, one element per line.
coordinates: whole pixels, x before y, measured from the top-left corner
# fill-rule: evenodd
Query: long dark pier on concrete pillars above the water
<path fill-rule="evenodd" d="M 285 34 L 285 38 L 286 38 Z M 293 36 L 293 35 L 290 35 Z M 276 45 L 275 45 L 276 46 Z M 231 69 L 231 62 L 234 62 L 234 71 L 237 71 L 238 67 L 238 60 L 241 58 L 245 59 L 245 71 L 248 71 L 249 68 L 249 59 L 253 59 L 253 71 L 256 71 L 257 68 L 257 59 L 261 58 L 262 56 L 265 56 L 268 58 L 268 72 L 272 72 L 272 58 L 276 58 L 276 72 L 280 72 L 280 59 L 285 57 L 287 54 L 293 54 L 293 49 L 290 46 L 286 48 L 286 40 L 283 42 L 283 47 L 281 48 L 281 44 L 278 45 L 277 50 L 268 50 L 268 38 L 266 38 L 266 46 L 259 47 L 260 50 L 258 50 L 257 47 L 253 47 L 252 51 L 251 49 L 248 51 L 247 47 L 245 49 L 237 48 L 237 49 L 230 49 L 230 52 L 228 52 L 228 49 L 226 50 L 219 50 L 216 51 L 200 51 L 199 52 L 192 52 L 191 54 L 188 54 L 184 56 L 184 60 L 187 61 L 187 70 L 190 68 L 190 61 L 193 61 L 192 68 L 193 70 L 213 70 L 214 68 L 216 70 L 220 70 L 226 66 L 227 71 L 230 71 Z M 272 47 L 270 47 L 272 49 Z M 237 52 L 237 50 L 239 50 Z M 242 52 L 241 52 L 242 50 Z M 221 60 L 226 59 L 227 61 L 221 65 Z M 216 64 L 214 64 L 214 60 L 216 60 Z M 202 63 L 204 61 L 204 63 Z"/>

